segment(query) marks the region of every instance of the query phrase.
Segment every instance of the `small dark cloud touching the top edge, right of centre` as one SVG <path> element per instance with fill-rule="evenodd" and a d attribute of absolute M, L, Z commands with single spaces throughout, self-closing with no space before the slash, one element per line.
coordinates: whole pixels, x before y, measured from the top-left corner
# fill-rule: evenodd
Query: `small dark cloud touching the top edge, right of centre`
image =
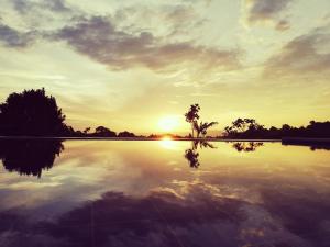
<path fill-rule="evenodd" d="M 251 4 L 248 13 L 250 23 L 276 20 L 293 0 L 246 0 Z"/>

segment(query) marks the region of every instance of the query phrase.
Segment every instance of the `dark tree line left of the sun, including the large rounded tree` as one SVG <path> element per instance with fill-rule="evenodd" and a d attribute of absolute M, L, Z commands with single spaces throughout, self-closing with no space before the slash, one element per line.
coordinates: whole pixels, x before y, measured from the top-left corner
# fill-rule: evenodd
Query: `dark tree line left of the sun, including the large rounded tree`
<path fill-rule="evenodd" d="M 124 131 L 117 134 L 105 126 L 98 126 L 94 132 L 90 127 L 76 131 L 65 120 L 56 99 L 47 96 L 44 88 L 11 93 L 0 104 L 2 136 L 135 137 L 134 133 Z"/>

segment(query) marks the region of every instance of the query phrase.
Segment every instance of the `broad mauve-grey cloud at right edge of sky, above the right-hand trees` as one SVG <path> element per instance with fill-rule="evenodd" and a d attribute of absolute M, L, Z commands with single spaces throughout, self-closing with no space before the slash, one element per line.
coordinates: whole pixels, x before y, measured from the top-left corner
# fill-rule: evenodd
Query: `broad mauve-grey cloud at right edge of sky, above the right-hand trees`
<path fill-rule="evenodd" d="M 310 75 L 329 71 L 329 26 L 317 29 L 287 43 L 265 64 L 265 76 Z"/>

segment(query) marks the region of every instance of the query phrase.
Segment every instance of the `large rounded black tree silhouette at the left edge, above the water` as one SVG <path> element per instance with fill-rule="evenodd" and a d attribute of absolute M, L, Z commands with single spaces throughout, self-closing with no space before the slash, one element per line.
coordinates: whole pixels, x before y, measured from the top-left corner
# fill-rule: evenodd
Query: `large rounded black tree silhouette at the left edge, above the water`
<path fill-rule="evenodd" d="M 61 135 L 67 131 L 65 115 L 44 89 L 10 94 L 0 104 L 1 135 Z"/>

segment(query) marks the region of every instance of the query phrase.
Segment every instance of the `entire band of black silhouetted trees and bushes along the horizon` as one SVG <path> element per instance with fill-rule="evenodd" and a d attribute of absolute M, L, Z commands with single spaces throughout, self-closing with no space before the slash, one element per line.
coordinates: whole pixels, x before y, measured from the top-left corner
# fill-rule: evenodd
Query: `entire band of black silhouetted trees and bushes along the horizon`
<path fill-rule="evenodd" d="M 199 116 L 199 104 L 191 104 L 185 113 L 190 124 L 191 133 L 188 138 L 205 138 L 210 127 L 218 122 L 202 122 Z M 134 138 L 134 133 L 123 131 L 116 133 L 106 127 L 98 126 L 94 131 L 86 127 L 84 131 L 74 130 L 65 123 L 66 116 L 58 108 L 56 99 L 47 96 L 44 89 L 24 90 L 21 93 L 11 93 L 6 102 L 0 104 L 0 135 L 1 136 L 63 136 L 63 137 L 121 137 Z M 145 138 L 162 138 L 170 136 L 182 138 L 179 135 L 151 134 Z M 230 126 L 219 133 L 220 138 L 282 138 L 282 137 L 330 137 L 330 122 L 310 121 L 309 125 L 294 127 L 284 124 L 280 128 L 270 127 L 256 122 L 254 119 L 237 119 Z"/>

